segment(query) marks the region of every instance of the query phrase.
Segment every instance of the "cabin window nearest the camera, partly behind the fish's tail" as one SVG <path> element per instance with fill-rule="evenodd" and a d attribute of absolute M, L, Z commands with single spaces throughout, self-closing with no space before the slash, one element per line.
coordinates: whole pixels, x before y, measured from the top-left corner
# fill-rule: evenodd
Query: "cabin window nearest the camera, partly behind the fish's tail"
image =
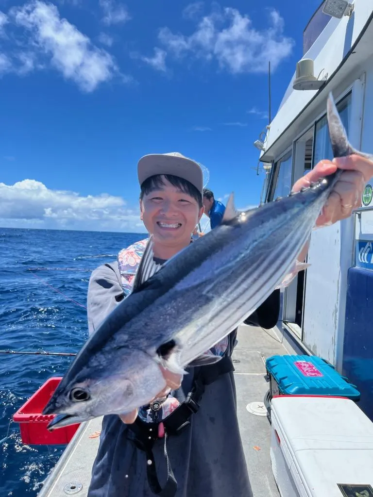
<path fill-rule="evenodd" d="M 349 118 L 351 112 L 351 92 L 346 95 L 340 102 L 338 102 L 337 109 L 348 134 Z M 329 159 L 330 161 L 333 159 L 333 151 L 329 138 L 326 114 L 319 121 L 316 122 L 315 128 L 312 167 L 315 166 L 322 159 Z"/>

